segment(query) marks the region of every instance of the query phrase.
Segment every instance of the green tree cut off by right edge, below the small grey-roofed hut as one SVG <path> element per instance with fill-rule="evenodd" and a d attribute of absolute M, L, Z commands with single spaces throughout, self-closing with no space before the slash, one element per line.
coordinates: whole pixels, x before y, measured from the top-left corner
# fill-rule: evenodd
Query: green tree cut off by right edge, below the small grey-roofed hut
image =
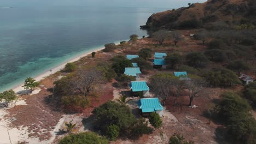
<path fill-rule="evenodd" d="M 256 82 L 250 82 L 245 86 L 243 94 L 249 100 L 253 101 L 253 104 L 256 104 Z"/>

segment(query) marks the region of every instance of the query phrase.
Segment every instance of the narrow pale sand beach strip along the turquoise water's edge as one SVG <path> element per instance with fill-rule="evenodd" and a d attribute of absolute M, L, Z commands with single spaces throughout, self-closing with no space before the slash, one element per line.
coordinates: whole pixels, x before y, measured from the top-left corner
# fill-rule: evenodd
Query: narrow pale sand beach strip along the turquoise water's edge
<path fill-rule="evenodd" d="M 117 43 L 115 43 L 115 44 L 117 45 Z M 92 52 L 99 52 L 99 51 L 103 50 L 104 48 L 105 48 L 105 47 L 99 47 L 98 49 L 90 50 L 90 51 L 88 51 L 88 52 L 86 52 L 86 53 L 83 53 L 83 54 L 81 54 L 81 55 L 78 55 L 78 56 L 74 57 L 74 58 L 71 59 L 71 60 L 68 60 L 68 61 L 66 61 L 66 62 L 63 62 L 61 65 L 59 65 L 59 66 L 53 68 L 52 71 L 51 71 L 51 73 L 50 73 L 50 71 L 46 71 L 46 72 L 44 72 L 44 73 L 42 73 L 42 74 L 39 74 L 38 76 L 35 76 L 35 77 L 32 77 L 32 78 L 33 78 L 34 80 L 36 80 L 36 81 L 43 80 L 45 77 L 50 76 L 51 74 L 55 74 L 55 73 L 57 73 L 58 71 L 60 71 L 61 69 L 65 68 L 65 65 L 66 65 L 67 63 L 72 63 L 72 62 L 79 61 L 80 58 L 86 57 L 86 56 L 88 56 L 88 55 L 91 55 Z M 49 69 L 49 70 L 50 70 L 50 69 Z M 22 85 L 23 85 L 23 84 L 22 84 Z M 13 91 L 16 92 L 16 93 L 18 93 L 18 92 L 20 92 L 20 91 L 24 91 L 25 89 L 24 89 L 24 87 L 22 87 L 22 85 L 19 85 L 19 86 L 16 86 L 16 87 L 14 86 L 14 87 L 12 88 Z"/>

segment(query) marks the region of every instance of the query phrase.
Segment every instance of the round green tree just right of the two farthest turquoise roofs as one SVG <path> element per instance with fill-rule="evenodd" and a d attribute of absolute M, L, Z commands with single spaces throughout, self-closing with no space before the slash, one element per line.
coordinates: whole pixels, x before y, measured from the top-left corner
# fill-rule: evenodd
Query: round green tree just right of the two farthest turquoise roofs
<path fill-rule="evenodd" d="M 173 53 L 167 55 L 165 62 L 167 65 L 170 65 L 171 69 L 176 69 L 183 64 L 183 57 L 179 53 Z"/>

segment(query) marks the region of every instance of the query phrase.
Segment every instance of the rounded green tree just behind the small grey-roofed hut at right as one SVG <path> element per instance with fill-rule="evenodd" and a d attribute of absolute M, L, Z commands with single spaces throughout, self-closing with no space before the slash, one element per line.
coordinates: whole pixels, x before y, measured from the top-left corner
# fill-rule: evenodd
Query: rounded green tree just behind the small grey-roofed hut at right
<path fill-rule="evenodd" d="M 249 70 L 246 62 L 242 60 L 230 62 L 228 65 L 226 65 L 226 68 L 236 71 L 238 75 L 240 75 L 241 71 L 243 70 Z"/>

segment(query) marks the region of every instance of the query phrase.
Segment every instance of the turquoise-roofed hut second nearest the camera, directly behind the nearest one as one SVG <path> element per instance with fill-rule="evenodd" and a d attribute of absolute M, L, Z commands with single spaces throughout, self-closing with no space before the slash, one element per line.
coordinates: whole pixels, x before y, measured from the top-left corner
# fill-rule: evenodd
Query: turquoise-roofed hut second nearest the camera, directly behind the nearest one
<path fill-rule="evenodd" d="M 139 92 L 143 92 L 143 97 L 149 96 L 149 87 L 146 81 L 132 81 L 130 88 L 132 95 L 139 95 Z"/>

